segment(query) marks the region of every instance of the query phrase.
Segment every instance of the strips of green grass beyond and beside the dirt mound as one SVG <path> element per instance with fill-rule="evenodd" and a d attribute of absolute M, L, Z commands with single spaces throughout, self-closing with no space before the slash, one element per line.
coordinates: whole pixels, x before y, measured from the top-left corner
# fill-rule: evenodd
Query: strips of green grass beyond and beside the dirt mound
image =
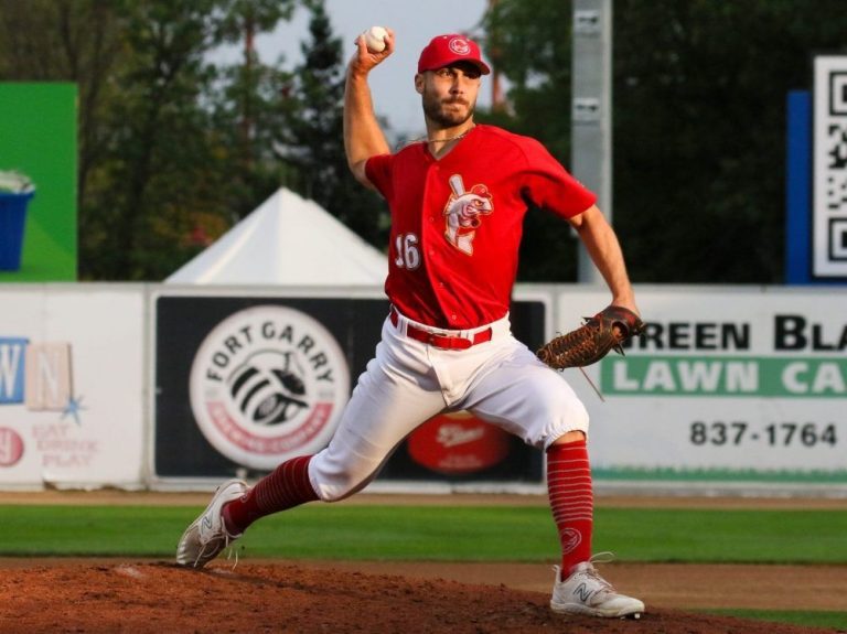
<path fill-rule="evenodd" d="M 0 556 L 171 558 L 199 511 L 0 506 Z M 596 517 L 594 550 L 622 561 L 847 565 L 847 509 L 598 508 Z M 547 508 L 507 506 L 303 506 L 262 519 L 239 544 L 286 559 L 532 562 L 558 551 Z M 847 612 L 725 613 L 847 627 Z"/>

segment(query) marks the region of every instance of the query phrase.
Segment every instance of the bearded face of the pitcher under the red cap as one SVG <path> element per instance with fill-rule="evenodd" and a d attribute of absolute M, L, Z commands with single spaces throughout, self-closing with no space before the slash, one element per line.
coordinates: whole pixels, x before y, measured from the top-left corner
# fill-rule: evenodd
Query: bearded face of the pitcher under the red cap
<path fill-rule="evenodd" d="M 441 128 L 464 123 L 476 107 L 480 69 L 459 62 L 415 76 L 415 88 L 421 94 L 424 114 Z"/>

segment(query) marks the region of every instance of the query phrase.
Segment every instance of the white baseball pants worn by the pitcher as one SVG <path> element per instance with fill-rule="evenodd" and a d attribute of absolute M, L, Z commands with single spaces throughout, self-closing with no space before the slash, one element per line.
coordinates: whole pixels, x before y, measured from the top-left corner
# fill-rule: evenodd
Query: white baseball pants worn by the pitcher
<path fill-rule="evenodd" d="M 406 335 L 403 315 L 386 319 L 376 355 L 358 377 L 330 444 L 309 464 L 320 498 L 335 502 L 364 488 L 400 442 L 443 411 L 468 410 L 546 449 L 569 431 L 588 433 L 588 412 L 561 375 L 544 365 L 510 331 L 508 316 L 472 331 L 492 329 L 491 341 L 467 350 L 442 350 Z"/>

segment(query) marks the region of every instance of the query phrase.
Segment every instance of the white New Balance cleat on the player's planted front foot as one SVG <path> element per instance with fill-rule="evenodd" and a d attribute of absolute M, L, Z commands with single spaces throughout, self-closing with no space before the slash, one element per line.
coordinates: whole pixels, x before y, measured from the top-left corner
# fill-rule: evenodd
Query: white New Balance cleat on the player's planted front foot
<path fill-rule="evenodd" d="M 640 619 L 644 603 L 632 597 L 619 594 L 594 568 L 591 561 L 579 563 L 565 581 L 559 581 L 558 566 L 554 566 L 556 582 L 553 585 L 550 610 L 559 614 L 590 614 L 609 619 Z"/>

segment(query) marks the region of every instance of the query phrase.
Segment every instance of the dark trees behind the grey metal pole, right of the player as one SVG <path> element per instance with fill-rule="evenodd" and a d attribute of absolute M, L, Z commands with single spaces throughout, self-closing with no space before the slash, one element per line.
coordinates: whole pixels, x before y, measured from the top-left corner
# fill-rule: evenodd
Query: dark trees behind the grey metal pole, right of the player
<path fill-rule="evenodd" d="M 845 49 L 843 9 L 839 0 L 614 2 L 614 222 L 635 281 L 782 280 L 785 95 L 811 85 L 813 52 Z M 498 0 L 484 22 L 514 86 L 510 126 L 566 164 L 571 10 Z M 528 227 L 525 250 L 559 257 L 535 239 Z M 529 264 L 525 279 L 564 279 Z"/>

